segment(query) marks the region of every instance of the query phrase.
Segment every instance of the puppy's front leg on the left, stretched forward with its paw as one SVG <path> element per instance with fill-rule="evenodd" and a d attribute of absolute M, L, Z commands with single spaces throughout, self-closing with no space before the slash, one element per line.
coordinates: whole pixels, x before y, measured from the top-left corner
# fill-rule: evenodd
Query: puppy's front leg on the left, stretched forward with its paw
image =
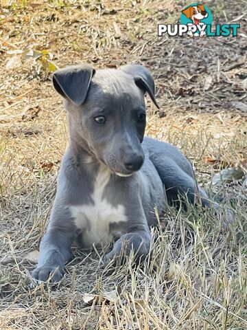
<path fill-rule="evenodd" d="M 48 230 L 40 243 L 38 265 L 32 276 L 38 281 L 58 282 L 63 276 L 64 263 L 71 257 L 75 228 L 67 210 L 54 209 Z"/>

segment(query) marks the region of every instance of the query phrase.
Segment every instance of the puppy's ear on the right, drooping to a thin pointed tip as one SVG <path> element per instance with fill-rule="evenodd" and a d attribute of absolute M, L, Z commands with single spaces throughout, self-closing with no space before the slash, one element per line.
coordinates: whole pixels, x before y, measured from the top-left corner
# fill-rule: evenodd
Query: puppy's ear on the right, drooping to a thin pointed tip
<path fill-rule="evenodd" d="M 155 106 L 159 109 L 158 103 L 155 99 L 154 78 L 148 69 L 143 67 L 143 65 L 124 65 L 124 67 L 120 67 L 120 69 L 133 76 L 134 83 L 136 83 L 136 85 L 143 91 L 144 94 L 146 91 L 148 91 L 152 102 L 154 102 Z"/>

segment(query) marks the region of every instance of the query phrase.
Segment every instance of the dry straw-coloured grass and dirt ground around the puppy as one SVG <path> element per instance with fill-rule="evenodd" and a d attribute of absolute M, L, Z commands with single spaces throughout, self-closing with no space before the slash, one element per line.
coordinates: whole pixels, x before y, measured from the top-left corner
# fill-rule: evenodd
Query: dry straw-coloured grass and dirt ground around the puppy
<path fill-rule="evenodd" d="M 207 1 L 215 23 L 242 25 L 237 38 L 158 38 L 157 23 L 178 23 L 186 4 L 1 1 L 0 329 L 247 328 L 247 181 L 212 184 L 223 168 L 246 173 L 246 1 Z M 146 65 L 161 107 L 147 100 L 146 134 L 178 146 L 199 184 L 225 203 L 217 214 L 168 210 L 140 267 L 130 259 L 109 273 L 104 251 L 73 248 L 57 287 L 31 289 L 68 142 L 51 72 L 81 61 Z"/>

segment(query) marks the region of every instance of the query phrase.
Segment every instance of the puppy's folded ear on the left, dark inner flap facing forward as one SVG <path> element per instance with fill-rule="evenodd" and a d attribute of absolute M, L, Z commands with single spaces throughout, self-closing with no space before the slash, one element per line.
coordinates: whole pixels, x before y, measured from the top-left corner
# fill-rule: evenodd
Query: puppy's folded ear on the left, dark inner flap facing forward
<path fill-rule="evenodd" d="M 74 65 L 54 72 L 52 82 L 63 98 L 80 106 L 86 100 L 95 69 L 90 65 Z"/>

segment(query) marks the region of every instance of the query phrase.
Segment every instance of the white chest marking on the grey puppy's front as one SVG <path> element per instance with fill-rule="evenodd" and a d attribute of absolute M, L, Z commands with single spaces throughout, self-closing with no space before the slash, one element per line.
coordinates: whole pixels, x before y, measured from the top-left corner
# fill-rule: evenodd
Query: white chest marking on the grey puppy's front
<path fill-rule="evenodd" d="M 114 236 L 114 233 L 110 232 L 110 223 L 127 221 L 124 206 L 112 206 L 103 197 L 109 179 L 108 168 L 99 168 L 91 195 L 93 203 L 71 206 L 72 217 L 76 227 L 82 230 L 83 245 L 86 247 L 93 243 L 109 243 Z"/>

